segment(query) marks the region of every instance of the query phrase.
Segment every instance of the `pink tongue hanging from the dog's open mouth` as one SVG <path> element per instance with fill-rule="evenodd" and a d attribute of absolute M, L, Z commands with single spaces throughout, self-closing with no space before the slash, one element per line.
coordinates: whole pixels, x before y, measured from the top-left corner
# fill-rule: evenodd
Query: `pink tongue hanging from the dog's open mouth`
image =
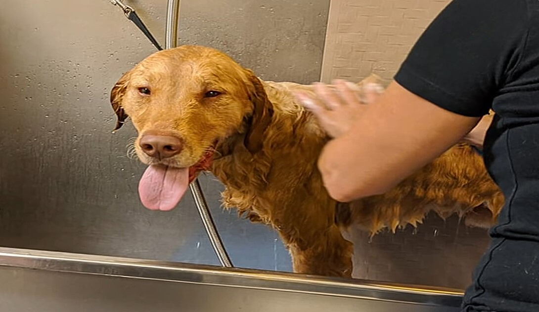
<path fill-rule="evenodd" d="M 144 207 L 171 210 L 189 187 L 189 168 L 149 166 L 139 182 L 139 196 Z"/>

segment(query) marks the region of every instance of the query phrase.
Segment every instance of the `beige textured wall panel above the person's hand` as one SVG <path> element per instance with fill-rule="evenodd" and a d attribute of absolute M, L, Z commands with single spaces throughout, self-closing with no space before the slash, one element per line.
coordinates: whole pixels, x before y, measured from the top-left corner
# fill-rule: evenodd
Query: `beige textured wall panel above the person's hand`
<path fill-rule="evenodd" d="M 448 0 L 332 0 L 321 80 L 389 82 Z"/>

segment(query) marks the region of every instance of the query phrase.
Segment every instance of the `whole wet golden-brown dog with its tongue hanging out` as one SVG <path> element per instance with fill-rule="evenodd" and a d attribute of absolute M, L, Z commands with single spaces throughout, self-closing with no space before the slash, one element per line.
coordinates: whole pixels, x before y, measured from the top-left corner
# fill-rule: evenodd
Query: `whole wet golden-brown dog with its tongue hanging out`
<path fill-rule="evenodd" d="M 363 82 L 360 82 L 360 84 Z M 293 90 L 265 82 L 215 49 L 182 46 L 148 56 L 112 90 L 116 129 L 129 116 L 149 165 L 139 193 L 150 209 L 169 210 L 188 183 L 209 170 L 224 183 L 226 208 L 271 225 L 288 247 L 295 272 L 351 276 L 350 225 L 373 235 L 416 225 L 430 210 L 457 213 L 468 225 L 492 225 L 503 195 L 470 146 L 459 144 L 390 192 L 352 203 L 328 196 L 316 168 L 327 142 Z"/>

